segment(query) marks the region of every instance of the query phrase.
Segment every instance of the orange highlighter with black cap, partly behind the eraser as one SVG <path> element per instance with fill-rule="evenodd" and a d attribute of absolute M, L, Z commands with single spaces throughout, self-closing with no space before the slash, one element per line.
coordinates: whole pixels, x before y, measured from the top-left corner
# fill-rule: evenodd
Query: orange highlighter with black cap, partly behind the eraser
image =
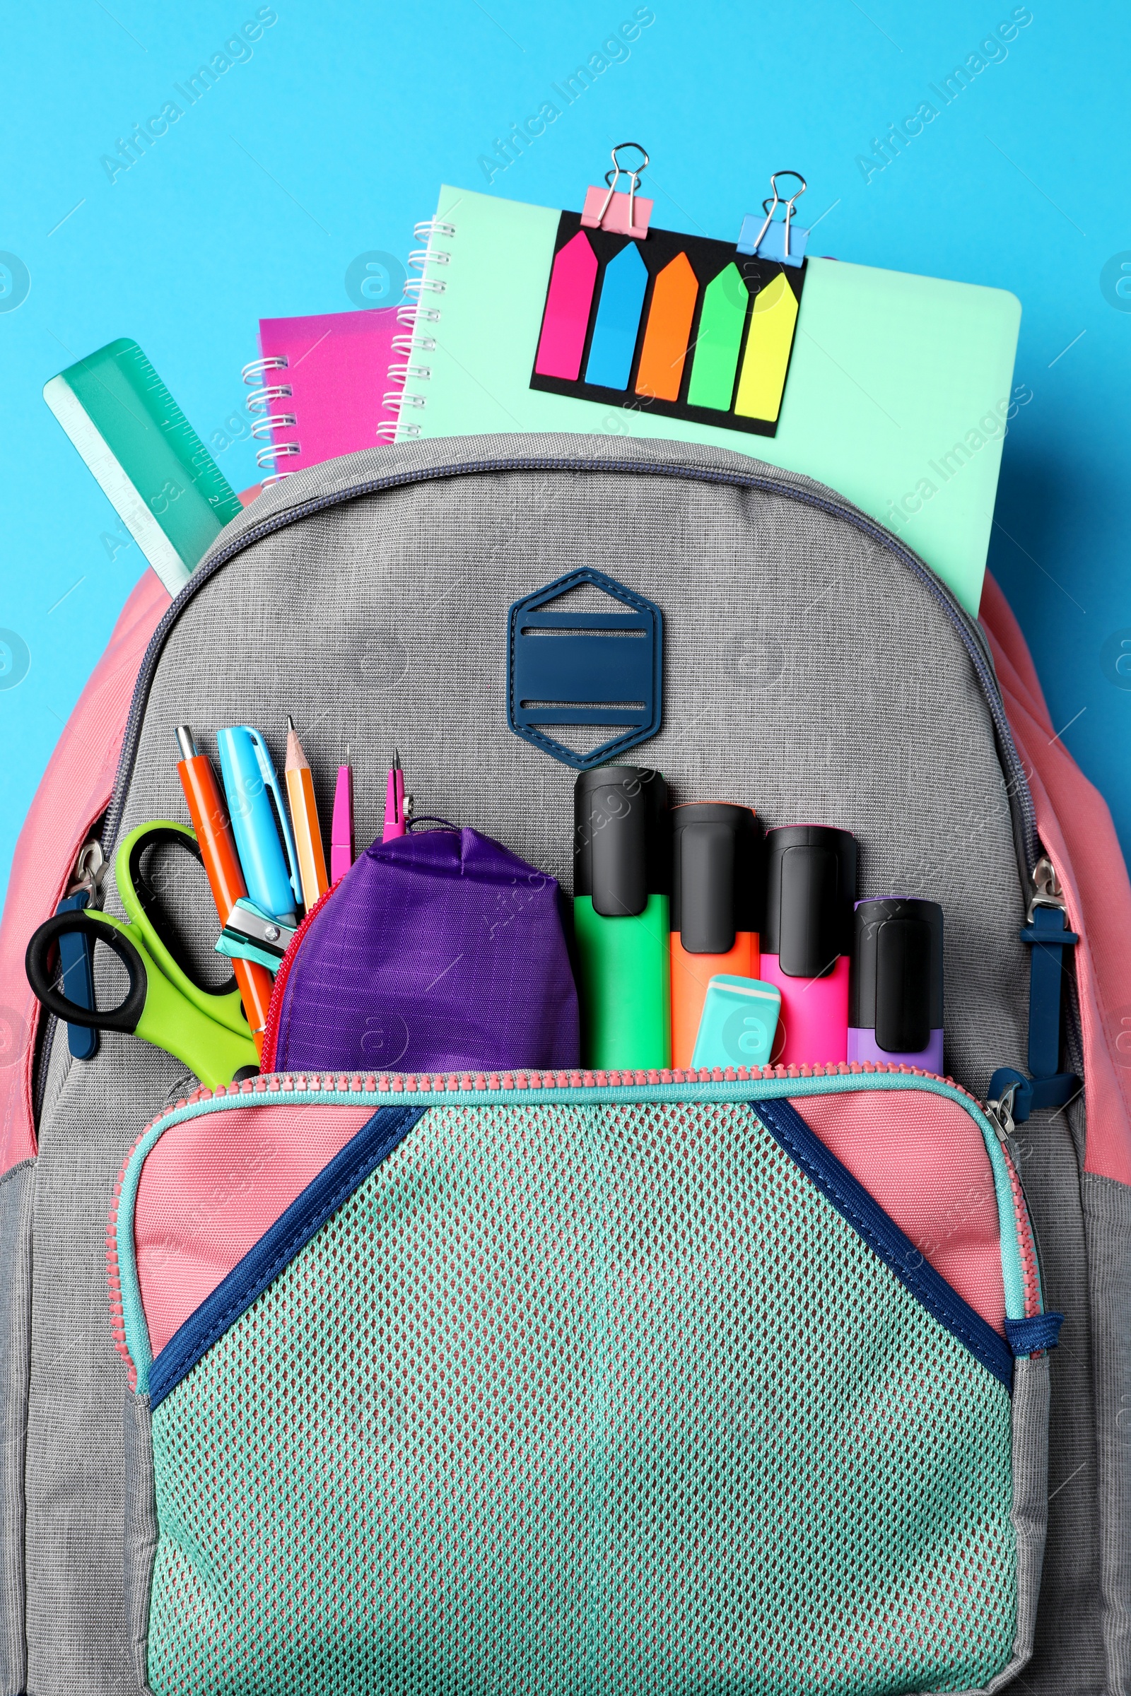
<path fill-rule="evenodd" d="M 758 977 L 763 875 L 749 807 L 671 809 L 671 1065 L 692 1063 L 710 979 Z"/>

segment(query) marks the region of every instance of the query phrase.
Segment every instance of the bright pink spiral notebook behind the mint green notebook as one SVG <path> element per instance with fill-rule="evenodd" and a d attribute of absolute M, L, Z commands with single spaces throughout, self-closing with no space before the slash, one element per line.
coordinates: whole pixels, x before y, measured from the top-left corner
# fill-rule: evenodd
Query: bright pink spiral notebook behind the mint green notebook
<path fill-rule="evenodd" d="M 395 336 L 397 307 L 259 319 L 263 358 L 244 382 L 261 385 L 248 410 L 268 444 L 256 455 L 265 482 L 392 441 L 405 373 Z"/>

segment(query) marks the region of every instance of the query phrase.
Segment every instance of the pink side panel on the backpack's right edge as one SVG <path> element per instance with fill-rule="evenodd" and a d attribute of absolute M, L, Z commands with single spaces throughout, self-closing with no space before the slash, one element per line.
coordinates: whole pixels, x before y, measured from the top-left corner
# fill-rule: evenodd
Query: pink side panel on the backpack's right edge
<path fill-rule="evenodd" d="M 1021 628 L 994 578 L 982 590 L 1009 728 L 1036 828 L 1078 933 L 1077 984 L 1087 1082 L 1085 1172 L 1131 1184 L 1131 882 L 1100 792 L 1058 741 Z"/>

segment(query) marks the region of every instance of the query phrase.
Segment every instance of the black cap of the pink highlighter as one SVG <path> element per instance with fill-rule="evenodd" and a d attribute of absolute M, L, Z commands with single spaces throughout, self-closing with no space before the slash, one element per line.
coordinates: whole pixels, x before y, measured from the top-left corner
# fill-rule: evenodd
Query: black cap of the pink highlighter
<path fill-rule="evenodd" d="M 856 838 L 829 824 L 785 824 L 766 834 L 761 951 L 787 977 L 827 977 L 853 938 Z"/>

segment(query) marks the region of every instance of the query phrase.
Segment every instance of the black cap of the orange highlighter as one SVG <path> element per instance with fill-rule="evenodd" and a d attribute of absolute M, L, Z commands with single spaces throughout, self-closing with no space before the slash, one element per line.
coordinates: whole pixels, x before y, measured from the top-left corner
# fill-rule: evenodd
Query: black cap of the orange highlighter
<path fill-rule="evenodd" d="M 688 953 L 729 953 L 739 931 L 760 929 L 761 838 L 749 807 L 671 809 L 671 929 Z"/>

